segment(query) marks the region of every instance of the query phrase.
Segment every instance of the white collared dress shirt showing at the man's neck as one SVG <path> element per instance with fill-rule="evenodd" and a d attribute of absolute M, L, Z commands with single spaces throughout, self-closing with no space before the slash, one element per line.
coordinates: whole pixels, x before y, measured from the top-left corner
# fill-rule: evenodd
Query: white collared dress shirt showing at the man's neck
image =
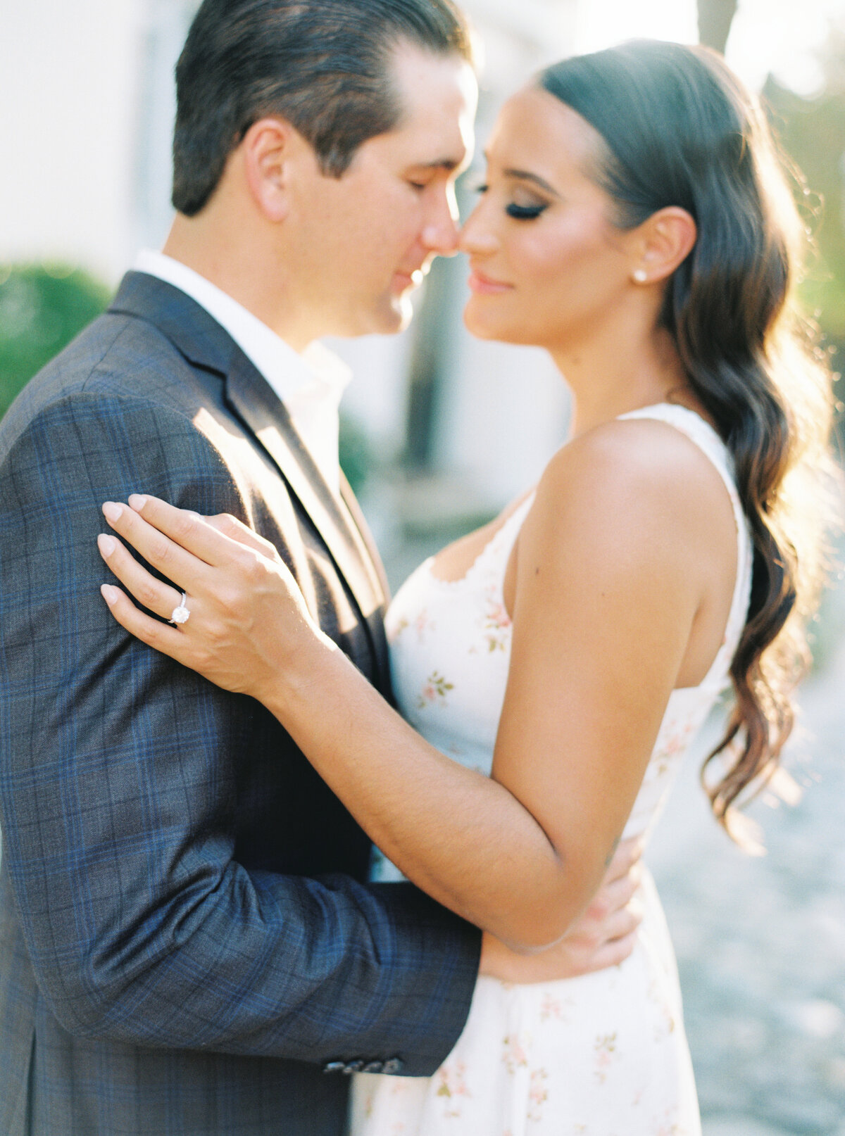
<path fill-rule="evenodd" d="M 297 433 L 334 493 L 339 491 L 340 396 L 349 368 L 322 343 L 300 354 L 231 295 L 173 257 L 143 249 L 133 266 L 181 289 L 232 336 L 284 403 Z"/>

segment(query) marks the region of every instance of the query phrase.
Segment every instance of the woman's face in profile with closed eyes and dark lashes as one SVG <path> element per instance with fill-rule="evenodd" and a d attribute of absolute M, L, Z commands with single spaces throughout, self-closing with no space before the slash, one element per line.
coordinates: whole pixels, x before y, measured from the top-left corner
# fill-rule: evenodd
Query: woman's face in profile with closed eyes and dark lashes
<path fill-rule="evenodd" d="M 631 287 L 632 233 L 590 177 L 600 135 L 540 87 L 510 99 L 487 149 L 482 198 L 461 248 L 472 269 L 464 311 L 481 339 L 553 353 L 602 334 Z"/>

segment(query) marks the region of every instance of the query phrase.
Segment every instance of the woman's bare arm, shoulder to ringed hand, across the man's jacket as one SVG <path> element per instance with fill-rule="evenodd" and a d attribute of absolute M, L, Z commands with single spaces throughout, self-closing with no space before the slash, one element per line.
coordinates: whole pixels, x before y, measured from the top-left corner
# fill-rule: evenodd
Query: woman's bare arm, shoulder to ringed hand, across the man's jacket
<path fill-rule="evenodd" d="M 189 592 L 194 624 L 164 627 L 122 593 L 113 612 L 150 645 L 259 698 L 425 892 L 519 950 L 546 947 L 588 903 L 624 827 L 713 545 L 696 492 L 706 459 L 689 443 L 655 445 L 653 433 L 644 446 L 648 425 L 611 424 L 571 443 L 538 487 L 519 540 L 492 778 L 403 721 L 313 628 L 277 563 L 198 518 L 141 507 L 199 561 L 133 510 L 114 521 Z M 140 583 L 129 554 L 108 561 L 146 605 L 175 607 L 172 588 Z"/>

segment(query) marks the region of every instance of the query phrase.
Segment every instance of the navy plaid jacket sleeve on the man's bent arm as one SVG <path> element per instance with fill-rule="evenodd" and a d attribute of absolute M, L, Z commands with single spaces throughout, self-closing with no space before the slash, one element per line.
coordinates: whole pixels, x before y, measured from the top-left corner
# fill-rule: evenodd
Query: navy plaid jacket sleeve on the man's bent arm
<path fill-rule="evenodd" d="M 2 832 L 43 995 L 75 1035 L 430 1074 L 478 934 L 409 886 L 234 860 L 259 708 L 109 616 L 100 504 L 133 491 L 243 515 L 210 443 L 142 399 L 53 402 L 0 467 Z"/>

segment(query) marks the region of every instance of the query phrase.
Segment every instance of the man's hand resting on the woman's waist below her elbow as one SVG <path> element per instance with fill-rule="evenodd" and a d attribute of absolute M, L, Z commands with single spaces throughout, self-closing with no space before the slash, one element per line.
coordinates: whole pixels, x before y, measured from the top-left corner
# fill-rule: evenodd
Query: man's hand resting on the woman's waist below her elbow
<path fill-rule="evenodd" d="M 590 905 L 548 951 L 517 954 L 484 933 L 479 974 L 504 983 L 546 983 L 624 962 L 633 950 L 643 918 L 636 899 L 641 854 L 639 837 L 619 845 Z"/>

